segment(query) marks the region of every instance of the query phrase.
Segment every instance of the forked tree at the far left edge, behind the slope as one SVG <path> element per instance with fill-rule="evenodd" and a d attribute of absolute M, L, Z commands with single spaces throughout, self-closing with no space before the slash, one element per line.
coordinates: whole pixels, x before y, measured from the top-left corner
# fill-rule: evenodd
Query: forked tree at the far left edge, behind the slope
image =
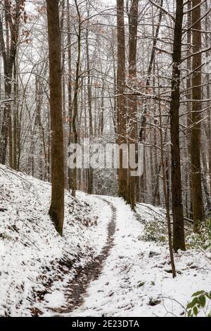
<path fill-rule="evenodd" d="M 25 0 L 4 0 L 4 20 L 0 15 L 0 54 L 4 63 L 4 92 L 6 104 L 1 126 L 0 161 L 6 163 L 6 151 L 9 142 L 9 163 L 13 168 L 13 132 L 11 94 L 13 87 L 13 68 L 15 66 L 16 52 L 19 42 L 20 20 L 26 19 Z"/>

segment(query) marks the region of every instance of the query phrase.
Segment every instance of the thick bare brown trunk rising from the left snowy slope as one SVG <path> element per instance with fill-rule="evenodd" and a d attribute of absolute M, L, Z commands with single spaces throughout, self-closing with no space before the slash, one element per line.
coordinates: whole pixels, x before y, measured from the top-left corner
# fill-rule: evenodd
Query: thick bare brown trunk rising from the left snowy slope
<path fill-rule="evenodd" d="M 49 215 L 60 235 L 63 235 L 64 221 L 64 152 L 63 152 L 63 105 L 59 1 L 46 0 L 51 106 L 51 207 Z"/>

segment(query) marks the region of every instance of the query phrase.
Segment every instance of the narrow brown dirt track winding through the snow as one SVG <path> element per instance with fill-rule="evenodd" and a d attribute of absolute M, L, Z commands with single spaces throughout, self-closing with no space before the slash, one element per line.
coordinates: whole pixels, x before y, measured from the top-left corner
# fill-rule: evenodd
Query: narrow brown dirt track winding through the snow
<path fill-rule="evenodd" d="M 87 288 L 92 281 L 97 280 L 101 275 L 104 262 L 110 254 L 110 249 L 113 247 L 117 210 L 115 206 L 113 206 L 113 204 L 106 199 L 101 200 L 108 204 L 113 211 L 112 219 L 108 224 L 106 245 L 103 247 L 101 254 L 99 254 L 94 261 L 88 263 L 85 268 L 79 268 L 79 270 L 77 270 L 74 279 L 70 281 L 66 291 L 66 298 L 68 301 L 67 308 L 53 309 L 56 316 L 60 316 L 60 314 L 72 313 L 72 311 L 84 304 L 84 296 L 87 293 Z"/>

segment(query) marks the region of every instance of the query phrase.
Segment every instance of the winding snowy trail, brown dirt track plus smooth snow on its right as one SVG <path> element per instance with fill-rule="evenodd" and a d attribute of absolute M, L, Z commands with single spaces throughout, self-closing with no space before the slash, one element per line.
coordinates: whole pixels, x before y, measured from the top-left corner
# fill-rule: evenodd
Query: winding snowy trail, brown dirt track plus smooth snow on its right
<path fill-rule="evenodd" d="M 89 199 L 92 197 L 89 196 Z M 106 245 L 101 254 L 85 268 L 80 268 L 69 282 L 65 289 L 67 302 L 62 308 L 53 310 L 53 316 L 108 316 L 109 302 L 113 301 L 115 309 L 122 310 L 118 304 L 119 294 L 121 296 L 125 290 L 130 291 L 133 285 L 127 268 L 131 259 L 136 256 L 143 227 L 137 221 L 136 214 L 122 199 L 109 196 L 98 196 L 98 199 L 112 210 Z M 129 296 L 128 299 L 130 301 Z"/>

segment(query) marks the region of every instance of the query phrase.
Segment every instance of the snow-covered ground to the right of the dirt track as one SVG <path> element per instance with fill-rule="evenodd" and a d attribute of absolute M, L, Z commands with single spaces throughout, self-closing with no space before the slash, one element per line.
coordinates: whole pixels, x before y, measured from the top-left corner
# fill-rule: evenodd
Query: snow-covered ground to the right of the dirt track
<path fill-rule="evenodd" d="M 117 208 L 115 246 L 101 277 L 89 287 L 84 305 L 70 316 L 184 316 L 183 306 L 193 292 L 211 289 L 210 262 L 198 251 L 176 254 L 173 280 L 167 245 L 143 242 L 143 225 L 129 206 L 121 199 L 107 199 Z M 144 222 L 161 213 L 147 205 L 137 212 Z"/>

